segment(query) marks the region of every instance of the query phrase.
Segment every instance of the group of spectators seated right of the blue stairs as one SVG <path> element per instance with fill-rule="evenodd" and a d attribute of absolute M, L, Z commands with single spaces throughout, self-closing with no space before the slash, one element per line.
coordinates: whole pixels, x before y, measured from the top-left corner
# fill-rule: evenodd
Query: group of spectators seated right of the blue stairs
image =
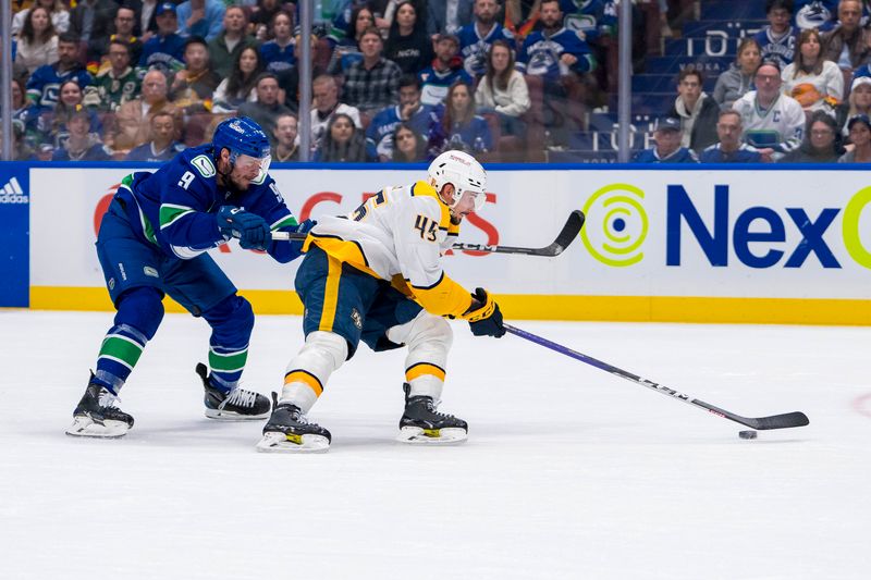
<path fill-rule="evenodd" d="M 768 26 L 739 42 L 713 95 L 701 67 L 682 70 L 636 161 L 871 161 L 871 2 L 766 0 L 765 11 Z"/>

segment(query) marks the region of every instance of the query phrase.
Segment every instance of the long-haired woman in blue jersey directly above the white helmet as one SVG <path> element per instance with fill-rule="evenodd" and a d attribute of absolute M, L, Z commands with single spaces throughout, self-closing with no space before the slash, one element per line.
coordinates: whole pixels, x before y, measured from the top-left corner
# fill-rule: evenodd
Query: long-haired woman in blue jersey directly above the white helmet
<path fill-rule="evenodd" d="M 476 114 L 471 85 L 457 81 L 447 91 L 440 131 L 430 134 L 429 150 L 457 149 L 476 157 L 493 150 L 493 135 L 487 121 Z"/>

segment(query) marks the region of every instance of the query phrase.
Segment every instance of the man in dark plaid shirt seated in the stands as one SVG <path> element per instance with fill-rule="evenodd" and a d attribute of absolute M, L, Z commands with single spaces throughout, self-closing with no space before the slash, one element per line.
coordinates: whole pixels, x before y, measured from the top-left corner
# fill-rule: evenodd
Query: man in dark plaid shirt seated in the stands
<path fill-rule="evenodd" d="M 382 55 L 384 41 L 372 26 L 360 37 L 363 60 L 345 72 L 345 101 L 369 118 L 377 111 L 398 102 L 400 66 Z"/>

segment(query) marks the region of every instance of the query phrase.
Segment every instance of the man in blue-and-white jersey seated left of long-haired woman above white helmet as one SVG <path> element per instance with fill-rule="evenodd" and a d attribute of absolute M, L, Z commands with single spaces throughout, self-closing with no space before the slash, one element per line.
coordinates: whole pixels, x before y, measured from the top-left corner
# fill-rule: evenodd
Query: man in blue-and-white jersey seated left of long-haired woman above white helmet
<path fill-rule="evenodd" d="M 390 160 L 392 157 L 392 136 L 403 123 L 424 136 L 429 135 L 430 127 L 439 123 L 434 108 L 420 102 L 420 81 L 414 75 L 400 78 L 400 104 L 379 111 L 366 128 L 366 138 L 375 144 L 381 160 Z"/>

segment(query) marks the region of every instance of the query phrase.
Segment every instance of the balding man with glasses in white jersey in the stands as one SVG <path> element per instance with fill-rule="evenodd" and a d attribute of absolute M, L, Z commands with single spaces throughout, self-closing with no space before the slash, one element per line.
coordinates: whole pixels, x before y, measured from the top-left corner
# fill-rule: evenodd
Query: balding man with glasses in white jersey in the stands
<path fill-rule="evenodd" d="M 756 71 L 756 90 L 732 106 L 741 115 L 744 140 L 763 161 L 777 161 L 798 149 L 805 135 L 805 110 L 793 97 L 781 92 L 781 67 L 763 61 Z"/>

